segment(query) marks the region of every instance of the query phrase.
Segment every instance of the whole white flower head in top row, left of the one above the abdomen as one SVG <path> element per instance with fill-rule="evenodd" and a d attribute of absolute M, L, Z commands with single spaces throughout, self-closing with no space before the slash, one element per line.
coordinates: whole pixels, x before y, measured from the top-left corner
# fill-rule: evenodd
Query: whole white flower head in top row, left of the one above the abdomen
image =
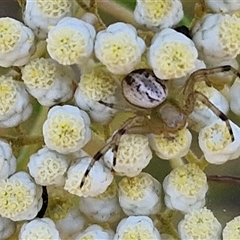
<path fill-rule="evenodd" d="M 48 53 L 63 65 L 82 63 L 92 54 L 95 34 L 89 23 L 65 17 L 48 32 Z"/>

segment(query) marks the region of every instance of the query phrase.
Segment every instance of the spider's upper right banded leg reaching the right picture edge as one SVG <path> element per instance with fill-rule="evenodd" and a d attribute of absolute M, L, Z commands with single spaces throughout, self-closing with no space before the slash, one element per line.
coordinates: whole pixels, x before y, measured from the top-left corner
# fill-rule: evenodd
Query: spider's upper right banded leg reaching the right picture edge
<path fill-rule="evenodd" d="M 194 85 L 196 82 L 205 81 L 208 86 L 211 86 L 212 83 L 207 78 L 208 75 L 213 75 L 216 73 L 223 73 L 223 72 L 232 72 L 235 76 L 240 78 L 240 73 L 230 65 L 208 68 L 208 69 L 199 69 L 192 73 L 185 83 L 183 95 L 188 96 L 194 91 Z"/>

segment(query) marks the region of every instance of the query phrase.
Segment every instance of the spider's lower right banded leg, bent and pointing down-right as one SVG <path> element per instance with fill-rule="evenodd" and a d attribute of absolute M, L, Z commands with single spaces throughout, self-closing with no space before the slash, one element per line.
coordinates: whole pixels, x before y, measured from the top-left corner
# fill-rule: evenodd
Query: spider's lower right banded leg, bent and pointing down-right
<path fill-rule="evenodd" d="M 213 113 L 215 113 L 215 115 L 217 117 L 219 117 L 222 121 L 225 122 L 225 124 L 228 128 L 229 134 L 231 136 L 231 140 L 233 142 L 234 135 L 233 135 L 232 127 L 230 125 L 228 117 L 219 108 L 217 108 L 214 104 L 212 104 L 208 100 L 208 98 L 205 95 L 203 95 L 201 92 L 194 91 L 192 94 L 190 94 L 185 103 L 185 106 L 183 107 L 183 110 L 189 115 L 193 111 L 197 100 L 201 101 L 204 105 L 206 105 L 208 108 L 210 108 L 211 111 Z"/>

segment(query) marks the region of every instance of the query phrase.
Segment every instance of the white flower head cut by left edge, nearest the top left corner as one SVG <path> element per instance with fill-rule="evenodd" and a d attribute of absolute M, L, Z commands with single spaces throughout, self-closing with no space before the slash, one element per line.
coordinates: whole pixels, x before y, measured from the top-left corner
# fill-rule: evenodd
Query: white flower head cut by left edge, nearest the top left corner
<path fill-rule="evenodd" d="M 13 18 L 0 18 L 0 66 L 22 66 L 34 52 L 32 30 Z"/>

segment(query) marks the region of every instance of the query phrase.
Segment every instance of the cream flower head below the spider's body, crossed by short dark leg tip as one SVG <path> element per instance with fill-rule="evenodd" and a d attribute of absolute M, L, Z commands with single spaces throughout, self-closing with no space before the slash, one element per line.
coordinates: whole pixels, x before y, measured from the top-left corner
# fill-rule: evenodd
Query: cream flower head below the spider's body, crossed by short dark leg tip
<path fill-rule="evenodd" d="M 103 157 L 104 162 L 119 175 L 134 177 L 152 159 L 148 138 L 141 134 L 124 134 L 119 142 L 116 165 L 113 166 L 113 152 L 109 150 Z"/>

